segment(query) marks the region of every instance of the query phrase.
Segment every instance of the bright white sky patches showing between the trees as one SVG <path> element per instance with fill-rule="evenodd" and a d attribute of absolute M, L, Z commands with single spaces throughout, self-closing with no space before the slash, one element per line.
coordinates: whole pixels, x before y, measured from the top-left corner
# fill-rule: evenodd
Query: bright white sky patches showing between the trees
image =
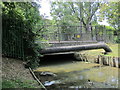
<path fill-rule="evenodd" d="M 41 8 L 39 11 L 41 15 L 47 16 L 47 19 L 52 19 L 50 15 L 50 0 L 41 0 Z M 102 22 L 98 22 L 98 24 L 109 26 L 106 19 Z"/>

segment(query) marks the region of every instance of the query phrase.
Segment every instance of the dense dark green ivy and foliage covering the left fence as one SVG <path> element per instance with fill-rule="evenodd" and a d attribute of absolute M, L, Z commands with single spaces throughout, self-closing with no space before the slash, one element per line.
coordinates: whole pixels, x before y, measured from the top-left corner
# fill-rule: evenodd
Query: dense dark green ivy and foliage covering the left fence
<path fill-rule="evenodd" d="M 9 35 L 13 37 L 13 39 L 10 36 L 7 38 L 6 36 L 3 37 L 3 41 L 7 41 L 4 45 L 8 47 L 13 46 L 13 52 L 17 53 L 17 48 L 21 47 L 13 43 L 17 40 L 18 42 L 21 41 L 22 44 L 23 41 L 22 52 L 24 52 L 24 60 L 29 63 L 27 65 L 28 67 L 36 67 L 39 63 L 40 56 L 38 50 L 41 49 L 41 47 L 35 44 L 35 40 L 38 38 L 38 35 L 42 33 L 42 29 L 40 29 L 42 26 L 37 25 L 43 25 L 37 4 L 33 2 L 3 2 L 2 6 L 3 30 L 6 30 L 5 33 L 8 32 Z M 14 38 L 16 39 L 14 40 Z M 42 38 L 39 38 L 39 40 L 40 39 Z M 8 44 L 8 42 L 10 43 Z M 5 51 L 5 49 L 3 50 Z M 8 51 L 6 52 L 8 53 Z"/>

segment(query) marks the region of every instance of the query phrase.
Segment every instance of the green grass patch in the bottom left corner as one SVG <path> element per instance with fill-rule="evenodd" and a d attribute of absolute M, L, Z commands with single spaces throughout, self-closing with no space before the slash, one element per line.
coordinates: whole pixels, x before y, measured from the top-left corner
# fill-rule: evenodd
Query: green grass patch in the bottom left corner
<path fill-rule="evenodd" d="M 2 88 L 38 88 L 34 84 L 35 82 L 32 80 L 3 80 Z"/>

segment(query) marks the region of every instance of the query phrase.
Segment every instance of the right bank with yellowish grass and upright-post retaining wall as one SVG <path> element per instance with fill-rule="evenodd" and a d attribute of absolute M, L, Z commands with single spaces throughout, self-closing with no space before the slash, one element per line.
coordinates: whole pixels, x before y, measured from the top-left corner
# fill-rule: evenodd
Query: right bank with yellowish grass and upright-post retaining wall
<path fill-rule="evenodd" d="M 108 44 L 112 50 L 110 53 L 106 53 L 103 49 L 80 51 L 75 53 L 75 58 L 80 61 L 120 68 L 119 45 Z"/>

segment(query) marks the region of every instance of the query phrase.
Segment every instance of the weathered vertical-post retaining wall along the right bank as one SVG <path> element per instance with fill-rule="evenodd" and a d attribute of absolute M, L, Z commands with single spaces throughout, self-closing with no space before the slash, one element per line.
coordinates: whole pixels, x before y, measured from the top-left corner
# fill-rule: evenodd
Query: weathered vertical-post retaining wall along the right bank
<path fill-rule="evenodd" d="M 75 53 L 74 56 L 77 60 L 80 60 L 80 61 L 98 63 L 101 65 L 120 68 L 120 57 L 104 56 L 104 55 L 91 56 L 91 55 L 82 54 L 82 53 L 79 53 L 79 54 Z"/>

